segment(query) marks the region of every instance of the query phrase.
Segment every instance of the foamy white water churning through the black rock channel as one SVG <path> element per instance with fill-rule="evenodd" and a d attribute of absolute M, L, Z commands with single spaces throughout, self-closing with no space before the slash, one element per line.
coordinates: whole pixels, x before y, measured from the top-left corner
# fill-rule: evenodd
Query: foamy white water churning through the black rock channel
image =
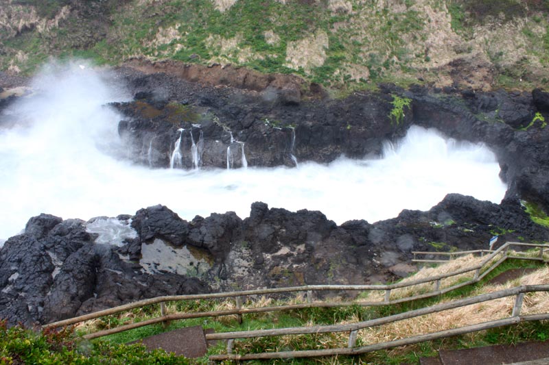
<path fill-rule="evenodd" d="M 58 69 L 36 80 L 34 97 L 0 115 L 0 238 L 18 234 L 40 213 L 88 220 L 159 203 L 185 219 L 231 210 L 245 218 L 251 203 L 264 201 L 320 210 L 343 223 L 428 210 L 449 192 L 495 203 L 504 197 L 489 149 L 420 127 L 396 147 L 387 144 L 379 160 L 200 171 L 133 166 L 116 157 L 125 151 L 117 136 L 120 116 L 104 105 L 127 95 L 106 86 L 108 77 L 89 68 Z M 18 125 L 2 127 L 8 118 Z"/>

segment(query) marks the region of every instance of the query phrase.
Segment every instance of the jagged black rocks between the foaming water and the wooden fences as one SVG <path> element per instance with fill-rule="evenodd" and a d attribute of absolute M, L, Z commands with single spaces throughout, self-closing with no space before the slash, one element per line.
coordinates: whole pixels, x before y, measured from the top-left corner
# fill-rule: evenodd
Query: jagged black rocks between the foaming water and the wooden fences
<path fill-rule="evenodd" d="M 31 218 L 25 233 L 0 249 L 0 316 L 47 323 L 147 297 L 206 292 L 209 285 L 379 283 L 408 275 L 412 251 L 487 248 L 494 234 L 500 242 L 549 239 L 549 229 L 533 223 L 516 200 L 498 205 L 460 194 L 428 212 L 404 210 L 373 224 L 338 226 L 321 212 L 260 202 L 244 220 L 227 212 L 187 222 L 161 205 L 118 218 L 131 218 L 137 231 L 121 245 L 97 243 L 90 222 Z M 173 257 L 180 262 L 165 264 Z"/>

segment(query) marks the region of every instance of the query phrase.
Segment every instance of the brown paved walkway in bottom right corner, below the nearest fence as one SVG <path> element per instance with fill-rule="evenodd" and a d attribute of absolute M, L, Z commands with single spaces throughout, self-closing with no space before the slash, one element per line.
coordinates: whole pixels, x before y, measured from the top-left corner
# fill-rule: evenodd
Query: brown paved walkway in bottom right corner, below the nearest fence
<path fill-rule="evenodd" d="M 421 365 L 548 365 L 549 341 L 441 350 L 438 357 L 422 358 L 419 363 Z"/>

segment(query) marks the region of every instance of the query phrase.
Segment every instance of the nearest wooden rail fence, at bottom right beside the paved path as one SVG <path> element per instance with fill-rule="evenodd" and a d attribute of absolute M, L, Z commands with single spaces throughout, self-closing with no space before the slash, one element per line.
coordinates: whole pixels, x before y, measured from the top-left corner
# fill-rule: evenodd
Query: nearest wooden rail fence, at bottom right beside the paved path
<path fill-rule="evenodd" d="M 323 326 L 311 326 L 311 327 L 294 327 L 294 328 L 282 328 L 282 329 L 261 329 L 256 331 L 237 331 L 237 332 L 225 332 L 225 333 L 210 333 L 206 335 L 207 340 L 236 340 L 241 338 L 256 338 L 256 337 L 268 337 L 268 336 L 288 336 L 288 335 L 302 335 L 312 333 L 334 333 L 334 332 L 349 332 L 349 346 L 347 348 L 340 349 L 324 349 L 324 350 L 305 350 L 305 351 L 283 351 L 272 353 L 254 353 L 247 355 L 234 355 L 232 354 L 232 348 L 227 349 L 226 355 L 212 355 L 209 360 L 258 360 L 258 359 L 275 359 L 275 358 L 289 358 L 289 357 L 314 357 L 314 356 L 329 356 L 329 355 L 354 355 L 360 353 L 366 353 L 379 349 L 388 349 L 391 347 L 404 346 L 406 344 L 414 344 L 417 342 L 423 342 L 428 340 L 434 340 L 437 338 L 443 338 L 448 336 L 456 336 L 458 334 L 469 333 L 472 331 L 482 331 L 484 329 L 490 329 L 495 327 L 501 327 L 504 325 L 516 324 L 526 320 L 544 320 L 549 319 L 549 313 L 533 314 L 529 316 L 520 316 L 524 294 L 529 292 L 548 292 L 549 285 L 533 285 L 533 286 L 517 286 L 515 288 L 509 288 L 500 290 L 498 292 L 491 292 L 487 294 L 480 294 L 476 297 L 470 297 L 467 299 L 460 299 L 449 303 L 441 303 L 432 305 L 431 307 L 424 307 L 419 310 L 412 310 L 401 314 L 394 314 L 393 316 L 387 316 L 383 318 L 376 318 L 372 320 L 365 320 L 358 323 L 350 323 L 345 325 L 323 325 Z M 405 320 L 409 318 L 415 318 L 418 316 L 424 316 L 426 314 L 443 312 L 445 310 L 452 310 L 458 307 L 465 307 L 466 305 L 482 303 L 485 301 L 492 301 L 494 299 L 500 299 L 505 297 L 515 296 L 515 305 L 513 305 L 513 312 L 509 318 L 502 318 L 499 320 L 493 320 L 484 323 L 476 323 L 474 325 L 467 325 L 456 329 L 448 329 L 445 331 L 439 331 L 435 333 L 428 333 L 419 336 L 412 336 L 404 338 L 402 340 L 382 342 L 379 344 L 371 344 L 365 347 L 355 348 L 357 331 L 360 329 L 366 329 L 369 327 L 386 325 L 388 323 L 394 323 L 399 320 Z M 234 341 L 228 342 L 231 346 Z M 351 346 L 352 345 L 352 346 Z"/>

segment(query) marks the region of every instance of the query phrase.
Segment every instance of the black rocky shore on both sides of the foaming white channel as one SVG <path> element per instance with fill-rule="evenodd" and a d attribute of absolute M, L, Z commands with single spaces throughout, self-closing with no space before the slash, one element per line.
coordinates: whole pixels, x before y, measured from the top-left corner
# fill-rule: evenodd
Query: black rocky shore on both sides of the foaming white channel
<path fill-rule="evenodd" d="M 181 155 L 179 168 L 239 168 L 242 151 L 248 166 L 363 158 L 379 155 L 384 140 L 404 136 L 410 125 L 421 125 L 487 144 L 509 189 L 500 204 L 449 194 L 428 212 L 404 210 L 386 221 L 339 226 L 321 212 L 259 202 L 248 218 L 227 212 L 192 221 L 158 205 L 117 217 L 113 224 L 134 232 L 119 244 L 90 229 L 106 218 L 86 223 L 42 214 L 0 249 L 0 318 L 32 325 L 165 294 L 384 282 L 414 270 L 411 251 L 486 248 L 495 234 L 502 242 L 549 238 L 522 206 L 528 201 L 549 211 L 549 94 L 542 90 L 386 84 L 331 99 L 319 86 L 286 75 L 234 84 L 239 77 L 224 78 L 216 68 L 215 77 L 200 83 L 189 77 L 194 73 L 178 75 L 168 66 L 115 70 L 135 95 L 113 106 L 124 115 L 119 134 L 136 163 L 170 166 L 178 139 L 182 149 L 196 151 Z M 3 99 L 0 109 L 15 98 Z M 393 113 L 397 98 L 409 100 L 401 118 Z M 161 265 L 170 255 L 185 264 Z"/>

